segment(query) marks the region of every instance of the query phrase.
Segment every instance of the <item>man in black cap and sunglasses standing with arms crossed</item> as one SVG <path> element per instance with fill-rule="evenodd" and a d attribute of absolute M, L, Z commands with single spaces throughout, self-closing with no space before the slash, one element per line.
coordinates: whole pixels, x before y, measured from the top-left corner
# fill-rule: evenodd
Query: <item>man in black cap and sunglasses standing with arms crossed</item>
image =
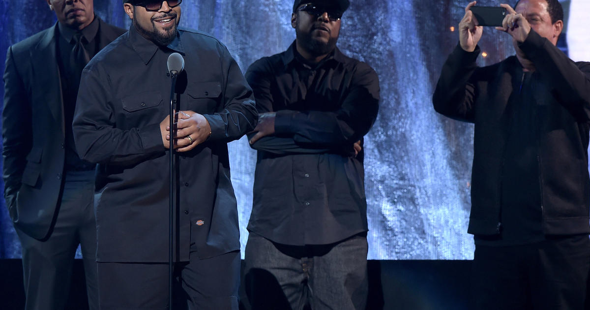
<path fill-rule="evenodd" d="M 361 141 L 377 116 L 379 81 L 336 47 L 348 6 L 296 0 L 294 43 L 246 73 L 261 113 L 250 135 L 258 160 L 245 250 L 253 309 L 365 309 Z"/>

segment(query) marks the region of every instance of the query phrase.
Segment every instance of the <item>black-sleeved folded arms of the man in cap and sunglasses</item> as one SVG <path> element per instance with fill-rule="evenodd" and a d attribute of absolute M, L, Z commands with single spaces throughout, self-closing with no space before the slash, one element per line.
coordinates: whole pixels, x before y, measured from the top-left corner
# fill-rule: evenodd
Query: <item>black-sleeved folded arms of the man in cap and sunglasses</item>
<path fill-rule="evenodd" d="M 268 70 L 248 70 L 247 79 L 253 87 L 258 111 L 274 112 Z M 350 89 L 339 109 L 278 110 L 273 115 L 274 130 L 252 143 L 254 149 L 286 153 L 324 153 L 354 151 L 353 144 L 364 136 L 375 122 L 379 104 L 379 81 L 375 71 L 359 65 Z M 253 138 L 256 133 L 249 136 Z M 260 137 L 262 138 L 262 137 Z"/>

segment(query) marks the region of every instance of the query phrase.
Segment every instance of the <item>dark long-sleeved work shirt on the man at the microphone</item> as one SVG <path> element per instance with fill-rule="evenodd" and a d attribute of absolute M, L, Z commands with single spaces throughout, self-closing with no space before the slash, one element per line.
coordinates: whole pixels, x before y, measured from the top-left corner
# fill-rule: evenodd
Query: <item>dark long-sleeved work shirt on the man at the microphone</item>
<path fill-rule="evenodd" d="M 160 122 L 169 112 L 166 61 L 185 58 L 179 110 L 207 118 L 209 139 L 176 153 L 175 259 L 240 249 L 227 142 L 254 129 L 253 93 L 227 48 L 183 31 L 159 48 L 133 25 L 84 68 L 74 115 L 78 154 L 99 163 L 95 197 L 99 262 L 168 260 L 169 157 Z"/>

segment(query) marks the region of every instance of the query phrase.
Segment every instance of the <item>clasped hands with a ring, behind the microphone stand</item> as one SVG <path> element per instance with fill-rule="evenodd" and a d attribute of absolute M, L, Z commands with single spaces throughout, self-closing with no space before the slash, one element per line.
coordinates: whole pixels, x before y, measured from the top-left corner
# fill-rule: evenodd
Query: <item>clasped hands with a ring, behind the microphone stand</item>
<path fill-rule="evenodd" d="M 195 148 L 195 146 L 205 142 L 211 135 L 211 126 L 209 122 L 199 113 L 186 110 L 179 111 L 175 114 L 175 135 L 172 142 L 178 152 L 186 152 Z M 170 116 L 166 116 L 160 122 L 160 132 L 162 133 L 162 143 L 165 148 L 170 148 Z"/>

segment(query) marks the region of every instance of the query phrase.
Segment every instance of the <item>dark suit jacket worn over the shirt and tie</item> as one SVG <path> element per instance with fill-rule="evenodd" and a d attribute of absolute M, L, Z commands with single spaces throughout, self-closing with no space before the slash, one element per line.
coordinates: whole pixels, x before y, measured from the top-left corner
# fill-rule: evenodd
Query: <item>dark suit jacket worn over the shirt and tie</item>
<path fill-rule="evenodd" d="M 98 17 L 97 17 L 98 18 Z M 126 30 L 99 19 L 103 48 Z M 15 227 L 47 236 L 59 203 L 65 162 L 65 126 L 57 23 L 6 52 L 2 158 L 4 197 Z"/>

